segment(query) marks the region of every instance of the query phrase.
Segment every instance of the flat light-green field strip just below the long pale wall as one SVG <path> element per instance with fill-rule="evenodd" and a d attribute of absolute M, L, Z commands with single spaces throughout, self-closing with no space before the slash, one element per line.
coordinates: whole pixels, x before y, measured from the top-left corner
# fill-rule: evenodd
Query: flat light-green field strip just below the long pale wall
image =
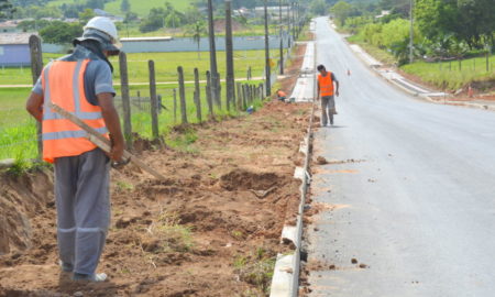
<path fill-rule="evenodd" d="M 278 51 L 271 52 L 272 57 L 278 57 Z M 59 55 L 44 54 L 44 63 L 50 58 L 55 58 Z M 147 61 L 155 62 L 156 81 L 177 81 L 177 66 L 184 66 L 184 75 L 186 80 L 194 79 L 194 68 L 197 67 L 201 79 L 205 79 L 205 74 L 209 70 L 209 53 L 201 52 L 200 59 L 196 52 L 180 52 L 180 53 L 140 53 L 128 54 L 128 69 L 130 82 L 146 82 L 148 81 L 148 66 Z M 217 53 L 218 68 L 222 78 L 224 78 L 226 70 L 226 52 Z M 111 58 L 114 66 L 113 77 L 116 82 L 120 81 L 119 62 L 117 57 Z M 235 77 L 245 78 L 246 70 L 251 66 L 253 77 L 263 75 L 264 69 L 264 51 L 237 51 L 234 52 L 234 68 Z M 186 67 L 187 66 L 187 67 Z M 4 68 L 0 69 L 1 85 L 30 85 L 32 84 L 30 68 Z"/>

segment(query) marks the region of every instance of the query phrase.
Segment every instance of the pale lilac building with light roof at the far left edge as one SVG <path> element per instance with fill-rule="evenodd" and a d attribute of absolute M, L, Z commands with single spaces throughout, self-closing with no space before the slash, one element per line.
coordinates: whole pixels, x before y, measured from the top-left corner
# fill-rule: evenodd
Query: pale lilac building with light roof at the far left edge
<path fill-rule="evenodd" d="M 32 33 L 0 33 L 0 67 L 31 65 Z"/>

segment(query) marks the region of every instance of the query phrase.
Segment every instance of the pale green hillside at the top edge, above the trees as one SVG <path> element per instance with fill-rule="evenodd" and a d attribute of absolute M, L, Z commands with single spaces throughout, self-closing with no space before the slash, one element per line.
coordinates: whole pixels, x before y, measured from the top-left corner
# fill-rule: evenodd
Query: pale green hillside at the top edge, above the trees
<path fill-rule="evenodd" d="M 170 4 L 178 11 L 185 11 L 193 2 L 191 0 L 167 0 L 167 1 L 170 2 Z M 116 15 L 123 15 L 124 13 L 122 13 L 122 11 L 120 10 L 121 2 L 122 2 L 121 0 L 108 2 L 105 6 L 105 11 Z M 129 2 L 131 3 L 131 11 L 138 13 L 140 16 L 146 16 L 150 12 L 150 9 L 152 8 L 165 7 L 165 0 L 145 0 L 145 1 L 129 0 Z M 64 3 L 66 4 L 74 3 L 74 0 L 56 0 L 50 2 L 51 6 L 55 7 L 59 7 Z"/>

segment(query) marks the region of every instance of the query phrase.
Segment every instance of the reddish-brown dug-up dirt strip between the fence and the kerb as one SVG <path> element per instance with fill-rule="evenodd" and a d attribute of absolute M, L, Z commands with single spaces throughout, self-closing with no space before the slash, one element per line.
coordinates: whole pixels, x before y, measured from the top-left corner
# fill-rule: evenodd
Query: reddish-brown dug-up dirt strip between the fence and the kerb
<path fill-rule="evenodd" d="M 166 179 L 112 170 L 102 284 L 59 271 L 51 169 L 3 174 L 0 296 L 266 296 L 298 206 L 293 174 L 309 112 L 271 101 L 252 116 L 179 128 L 174 148 L 140 141 L 140 157 Z"/>

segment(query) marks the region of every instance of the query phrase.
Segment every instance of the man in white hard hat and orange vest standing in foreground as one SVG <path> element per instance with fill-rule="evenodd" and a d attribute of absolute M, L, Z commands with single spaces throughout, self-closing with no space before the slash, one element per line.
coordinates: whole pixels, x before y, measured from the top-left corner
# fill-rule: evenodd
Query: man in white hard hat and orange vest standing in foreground
<path fill-rule="evenodd" d="M 103 282 L 107 275 L 96 268 L 110 224 L 110 162 L 121 161 L 124 150 L 108 61 L 120 51 L 116 25 L 107 18 L 94 18 L 73 43 L 72 54 L 44 67 L 26 109 L 42 122 L 43 160 L 55 167 L 62 272 L 74 280 Z M 88 141 L 86 131 L 51 109 L 51 102 L 111 138 L 110 153 Z"/>

